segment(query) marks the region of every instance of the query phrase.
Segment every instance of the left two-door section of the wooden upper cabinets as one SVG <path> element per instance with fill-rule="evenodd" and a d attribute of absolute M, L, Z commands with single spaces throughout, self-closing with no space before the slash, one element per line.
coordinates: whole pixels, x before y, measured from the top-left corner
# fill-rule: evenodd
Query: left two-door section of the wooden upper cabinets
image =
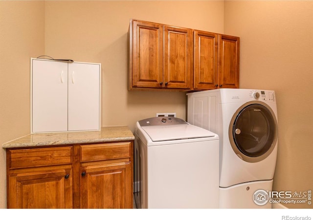
<path fill-rule="evenodd" d="M 190 88 L 191 29 L 131 20 L 129 38 L 130 89 Z"/>

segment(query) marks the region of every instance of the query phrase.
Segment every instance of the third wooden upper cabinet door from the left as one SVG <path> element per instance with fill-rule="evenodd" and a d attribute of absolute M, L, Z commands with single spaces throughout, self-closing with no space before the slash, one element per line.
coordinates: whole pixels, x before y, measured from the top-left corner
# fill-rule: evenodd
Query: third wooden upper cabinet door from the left
<path fill-rule="evenodd" d="M 214 89 L 218 84 L 218 34 L 194 31 L 194 88 Z"/>

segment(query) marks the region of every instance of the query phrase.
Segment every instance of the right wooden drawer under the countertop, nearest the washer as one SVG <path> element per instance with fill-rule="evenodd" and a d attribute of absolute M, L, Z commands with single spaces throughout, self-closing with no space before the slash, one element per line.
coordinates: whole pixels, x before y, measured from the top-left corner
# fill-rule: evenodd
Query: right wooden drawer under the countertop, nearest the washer
<path fill-rule="evenodd" d="M 81 145 L 81 162 L 131 157 L 131 142 Z"/>

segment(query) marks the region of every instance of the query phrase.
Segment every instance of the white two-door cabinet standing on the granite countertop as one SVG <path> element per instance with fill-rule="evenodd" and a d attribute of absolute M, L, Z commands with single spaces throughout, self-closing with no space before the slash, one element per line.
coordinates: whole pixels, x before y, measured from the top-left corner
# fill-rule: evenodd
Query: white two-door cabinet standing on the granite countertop
<path fill-rule="evenodd" d="M 31 58 L 31 132 L 100 130 L 100 69 Z"/>

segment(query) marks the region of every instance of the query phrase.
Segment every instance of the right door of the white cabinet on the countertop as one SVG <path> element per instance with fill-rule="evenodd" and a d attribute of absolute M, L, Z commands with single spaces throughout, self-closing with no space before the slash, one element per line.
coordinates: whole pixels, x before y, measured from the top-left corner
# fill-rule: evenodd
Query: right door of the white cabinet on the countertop
<path fill-rule="evenodd" d="M 100 129 L 100 65 L 68 64 L 68 131 Z"/>

